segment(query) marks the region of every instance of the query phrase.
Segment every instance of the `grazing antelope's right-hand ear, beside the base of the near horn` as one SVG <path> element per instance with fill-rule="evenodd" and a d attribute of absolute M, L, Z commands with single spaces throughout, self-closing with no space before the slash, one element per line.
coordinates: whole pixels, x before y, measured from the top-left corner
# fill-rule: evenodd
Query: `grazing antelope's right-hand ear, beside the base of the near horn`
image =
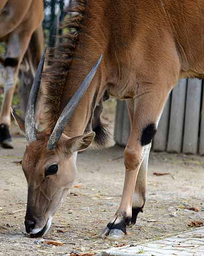
<path fill-rule="evenodd" d="M 75 151 L 81 151 L 88 148 L 94 140 L 95 132 L 91 132 L 86 135 L 77 136 L 69 139 L 66 143 L 67 151 L 74 153 Z"/>

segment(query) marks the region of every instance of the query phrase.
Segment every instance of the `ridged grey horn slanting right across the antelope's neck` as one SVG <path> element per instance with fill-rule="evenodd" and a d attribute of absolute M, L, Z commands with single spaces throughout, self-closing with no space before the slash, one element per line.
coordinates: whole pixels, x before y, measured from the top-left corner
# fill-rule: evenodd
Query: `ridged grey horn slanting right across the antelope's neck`
<path fill-rule="evenodd" d="M 100 61 L 102 59 L 102 55 L 100 55 L 100 58 L 94 65 L 94 67 L 91 69 L 87 77 L 84 79 L 80 87 L 78 88 L 77 92 L 73 95 L 71 100 L 67 103 L 66 107 L 62 111 L 62 114 L 60 115 L 55 128 L 50 135 L 49 141 L 47 143 L 47 149 L 51 150 L 54 149 L 57 145 L 58 140 L 60 139 L 64 128 L 71 118 L 75 108 L 77 107 L 79 101 L 81 100 L 83 94 L 87 91 L 89 84 L 91 83 L 92 79 L 94 78 L 96 71 L 98 69 L 98 66 L 100 64 Z"/>

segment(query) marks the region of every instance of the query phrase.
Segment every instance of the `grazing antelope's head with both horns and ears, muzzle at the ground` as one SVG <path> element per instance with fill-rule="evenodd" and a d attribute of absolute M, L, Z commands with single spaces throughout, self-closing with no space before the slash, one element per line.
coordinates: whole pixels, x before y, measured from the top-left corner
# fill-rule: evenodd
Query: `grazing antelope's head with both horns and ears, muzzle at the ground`
<path fill-rule="evenodd" d="M 67 195 L 77 173 L 77 152 L 86 149 L 94 140 L 91 132 L 74 138 L 63 130 L 84 92 L 96 74 L 101 57 L 83 83 L 67 103 L 52 133 L 38 132 L 34 121 L 34 108 L 43 71 L 45 52 L 36 73 L 28 101 L 25 121 L 12 110 L 12 114 L 28 141 L 22 169 L 28 182 L 28 202 L 25 230 L 31 237 L 44 235 L 53 215 Z"/>

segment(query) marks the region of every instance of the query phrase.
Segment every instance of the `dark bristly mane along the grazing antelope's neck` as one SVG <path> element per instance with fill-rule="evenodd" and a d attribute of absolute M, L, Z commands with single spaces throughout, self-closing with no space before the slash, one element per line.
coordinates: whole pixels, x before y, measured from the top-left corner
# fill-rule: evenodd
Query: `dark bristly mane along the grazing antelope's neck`
<path fill-rule="evenodd" d="M 70 69 L 75 47 L 78 44 L 79 35 L 84 28 L 87 0 L 77 0 L 71 7 L 66 9 L 66 16 L 61 25 L 63 35 L 60 36 L 60 44 L 55 51 L 55 57 L 49 58 L 49 66 L 44 73 L 45 93 L 44 105 L 46 108 L 45 119 L 47 129 L 53 131 L 60 116 L 60 102 L 66 82 L 67 73 Z M 70 89 L 71 90 L 71 89 Z"/>

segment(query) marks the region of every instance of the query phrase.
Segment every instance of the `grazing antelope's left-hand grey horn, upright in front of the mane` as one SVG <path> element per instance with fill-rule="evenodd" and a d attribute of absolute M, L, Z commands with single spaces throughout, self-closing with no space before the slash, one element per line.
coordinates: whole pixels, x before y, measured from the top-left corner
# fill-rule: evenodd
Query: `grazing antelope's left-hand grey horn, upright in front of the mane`
<path fill-rule="evenodd" d="M 46 49 L 43 52 L 40 63 L 38 65 L 38 69 L 36 71 L 36 76 L 32 84 L 32 88 L 30 91 L 30 96 L 27 104 L 27 109 L 25 113 L 25 137 L 29 143 L 31 141 L 37 140 L 37 129 L 35 125 L 35 105 L 38 97 L 41 76 L 43 73 L 43 67 L 45 62 L 45 52 L 46 52 Z"/>

